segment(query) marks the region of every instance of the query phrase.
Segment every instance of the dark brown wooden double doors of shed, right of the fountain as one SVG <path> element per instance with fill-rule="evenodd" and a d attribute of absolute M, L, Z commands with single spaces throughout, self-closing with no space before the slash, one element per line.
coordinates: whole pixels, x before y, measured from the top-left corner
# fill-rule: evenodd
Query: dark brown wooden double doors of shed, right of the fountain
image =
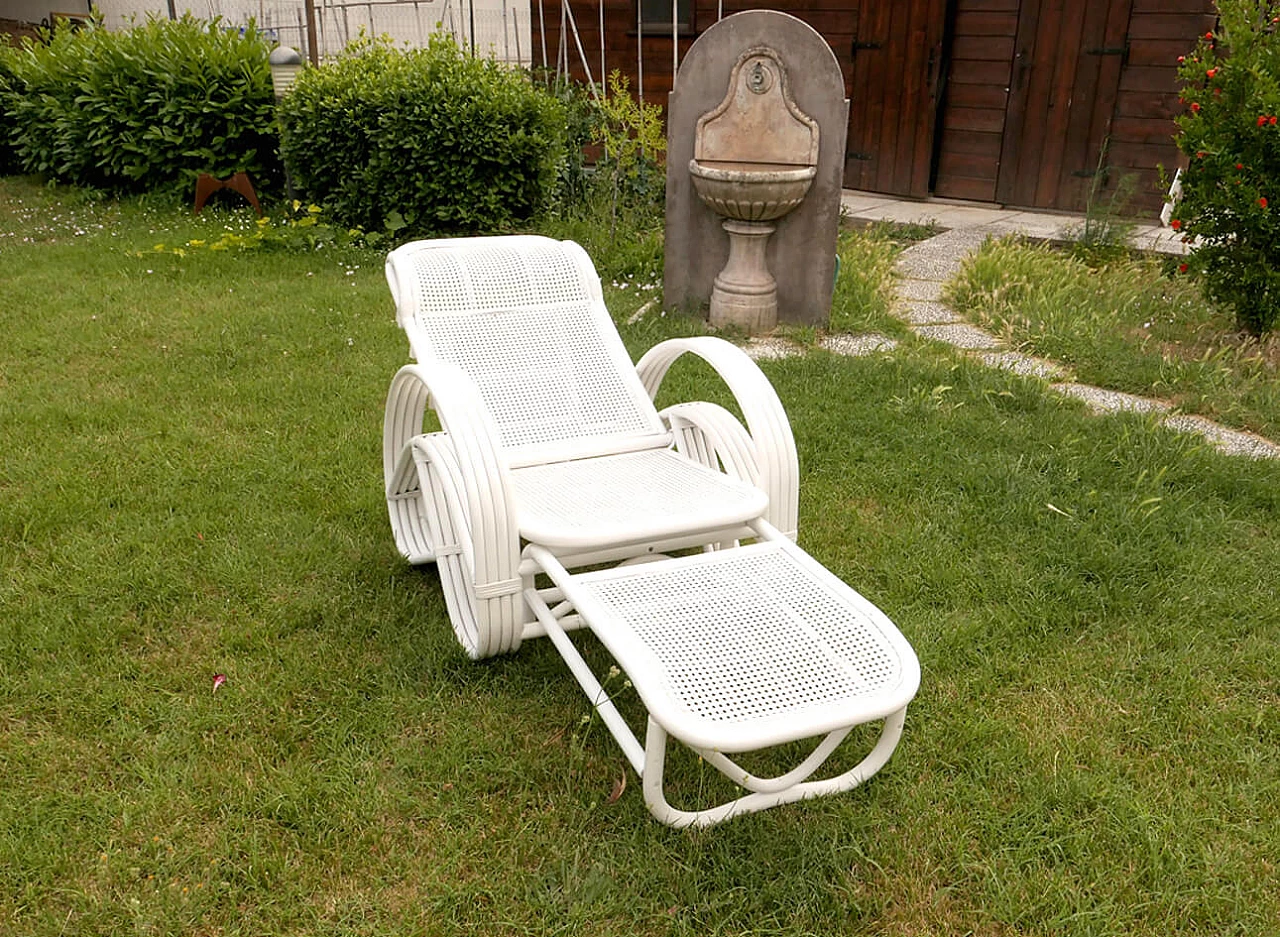
<path fill-rule="evenodd" d="M 845 184 L 1083 209 L 1103 163 L 1132 5 L 858 0 Z"/>

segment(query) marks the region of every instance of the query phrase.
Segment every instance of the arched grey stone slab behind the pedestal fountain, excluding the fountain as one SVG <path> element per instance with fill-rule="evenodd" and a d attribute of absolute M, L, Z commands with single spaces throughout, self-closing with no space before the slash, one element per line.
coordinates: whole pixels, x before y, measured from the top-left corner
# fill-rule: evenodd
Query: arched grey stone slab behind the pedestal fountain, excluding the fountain
<path fill-rule="evenodd" d="M 722 219 L 703 205 L 689 175 L 698 119 L 714 110 L 739 58 L 755 46 L 774 50 L 786 67 L 796 106 L 818 122 L 818 174 L 804 202 L 782 218 L 767 262 L 778 283 L 778 320 L 826 325 L 836 275 L 836 234 L 845 165 L 849 101 L 836 54 L 806 23 L 776 10 L 726 17 L 690 47 L 667 102 L 667 237 L 663 300 L 707 306 L 728 259 Z"/>

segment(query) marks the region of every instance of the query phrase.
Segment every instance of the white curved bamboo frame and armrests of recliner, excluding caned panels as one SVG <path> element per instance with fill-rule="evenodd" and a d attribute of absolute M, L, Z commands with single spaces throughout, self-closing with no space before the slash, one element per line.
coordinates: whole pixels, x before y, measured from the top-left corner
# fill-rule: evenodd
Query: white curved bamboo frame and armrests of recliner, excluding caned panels
<path fill-rule="evenodd" d="M 448 242 L 431 246 L 436 244 Z M 588 283 L 595 297 L 593 302 L 599 302 L 602 323 L 611 323 L 590 259 L 571 242 L 563 242 L 563 250 L 576 257 L 581 274 L 594 280 Z M 393 259 L 397 255 L 410 257 L 412 251 L 396 252 Z M 410 308 L 416 300 L 411 298 L 410 280 L 401 278 L 394 268 L 389 259 L 388 283 L 397 297 L 397 315 L 412 339 L 415 314 Z M 417 352 L 419 344 L 413 346 Z M 631 380 L 639 381 L 635 390 L 639 399 L 644 401 L 644 394 L 650 401 L 655 398 L 671 366 L 684 355 L 694 355 L 712 366 L 732 393 L 744 420 L 714 403 L 677 403 L 658 413 L 667 435 L 620 436 L 613 444 L 620 453 L 673 445 L 684 457 L 764 492 L 768 507 L 759 517 L 744 522 L 740 513 L 684 529 L 671 517 L 658 516 L 652 522 L 630 526 L 625 536 L 612 540 L 566 539 L 556 548 L 545 543 L 524 544 L 512 472 L 529 462 L 512 465 L 480 389 L 465 371 L 434 357 L 399 369 L 388 392 L 383 424 L 383 477 L 397 548 L 410 562 L 436 565 L 449 618 L 466 653 L 484 658 L 515 652 L 526 637 L 549 637 L 643 778 L 649 810 L 663 823 L 677 827 L 710 826 L 737 814 L 855 787 L 888 759 L 901 736 L 905 713 L 905 703 L 895 712 L 863 713 L 867 718 L 859 722 L 884 719 L 881 739 L 863 762 L 837 777 L 809 780 L 849 733 L 850 725 L 818 726 L 826 737 L 809 757 L 780 777 L 759 778 L 728 758 L 723 746 L 716 749 L 673 731 L 678 721 L 662 717 L 660 707 L 650 709 L 641 745 L 568 640 L 567 631 L 573 629 L 608 627 L 607 621 L 588 621 L 589 609 L 580 608 L 573 598 L 571 570 L 634 563 L 685 549 L 732 548 L 749 539 L 796 539 L 795 439 L 777 393 L 740 348 L 713 337 L 680 338 L 655 346 L 635 365 Z M 616 364 L 630 366 L 625 360 Z M 439 419 L 439 431 L 424 433 L 429 410 Z M 561 444 L 559 458 L 603 454 L 581 448 L 580 440 L 568 440 Z M 556 452 L 539 448 L 538 460 L 554 461 Z M 806 570 L 829 577 L 813 561 L 806 563 Z M 539 573 L 545 573 L 553 585 L 535 588 Z M 626 667 L 626 662 L 620 659 L 620 663 Z M 701 810 L 673 808 L 667 803 L 663 783 L 668 736 L 692 748 L 746 794 Z M 735 750 L 791 740 L 751 735 L 748 740 L 751 745 Z"/>

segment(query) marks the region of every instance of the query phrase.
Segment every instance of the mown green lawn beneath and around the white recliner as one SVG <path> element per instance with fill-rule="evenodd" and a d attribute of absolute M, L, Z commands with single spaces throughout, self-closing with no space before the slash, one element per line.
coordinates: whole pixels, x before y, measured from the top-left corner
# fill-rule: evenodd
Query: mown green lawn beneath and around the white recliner
<path fill-rule="evenodd" d="M 767 362 L 801 543 L 924 678 L 867 787 L 671 831 L 549 645 L 467 661 L 398 559 L 380 257 L 92 211 L 0 188 L 0 932 L 1275 929 L 1270 462 L 933 347 Z"/>

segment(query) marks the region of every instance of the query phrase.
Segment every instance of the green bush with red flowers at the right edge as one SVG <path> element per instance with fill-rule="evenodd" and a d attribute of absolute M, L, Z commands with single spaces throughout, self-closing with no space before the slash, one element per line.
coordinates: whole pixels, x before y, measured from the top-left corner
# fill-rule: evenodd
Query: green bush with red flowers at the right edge
<path fill-rule="evenodd" d="M 1171 227 L 1206 294 L 1262 334 L 1280 324 L 1280 0 L 1217 0 L 1219 29 L 1180 59 L 1188 156 Z"/>

